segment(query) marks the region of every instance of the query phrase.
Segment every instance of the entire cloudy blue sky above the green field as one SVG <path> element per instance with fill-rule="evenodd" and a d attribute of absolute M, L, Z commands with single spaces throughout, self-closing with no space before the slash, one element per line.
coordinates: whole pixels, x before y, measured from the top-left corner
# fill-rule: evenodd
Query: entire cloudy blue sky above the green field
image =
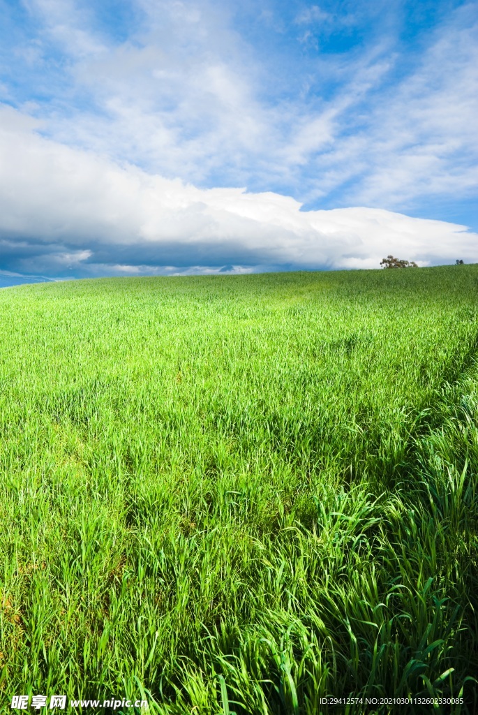
<path fill-rule="evenodd" d="M 478 261 L 476 2 L 0 14 L 6 282 Z"/>

